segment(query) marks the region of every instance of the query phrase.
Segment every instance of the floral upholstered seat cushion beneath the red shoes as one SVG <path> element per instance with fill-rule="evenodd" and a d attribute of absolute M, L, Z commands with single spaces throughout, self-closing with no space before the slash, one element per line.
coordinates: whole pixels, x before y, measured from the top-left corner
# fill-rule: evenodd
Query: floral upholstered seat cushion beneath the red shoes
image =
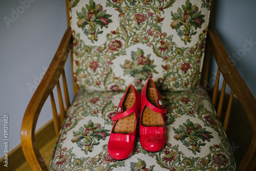
<path fill-rule="evenodd" d="M 167 106 L 167 143 L 147 152 L 137 141 L 133 155 L 113 160 L 108 141 L 123 92 L 80 89 L 62 125 L 50 170 L 234 170 L 231 147 L 214 106 L 201 88 L 161 92 Z M 224 169 L 225 168 L 225 169 Z"/>

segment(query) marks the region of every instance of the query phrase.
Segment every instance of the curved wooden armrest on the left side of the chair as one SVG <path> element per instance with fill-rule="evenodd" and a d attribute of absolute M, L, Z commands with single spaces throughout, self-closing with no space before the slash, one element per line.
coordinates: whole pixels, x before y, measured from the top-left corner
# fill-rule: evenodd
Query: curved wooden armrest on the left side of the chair
<path fill-rule="evenodd" d="M 40 155 L 35 143 L 35 127 L 42 106 L 52 93 L 60 75 L 64 71 L 64 66 L 72 47 L 72 31 L 69 27 L 62 37 L 57 52 L 46 74 L 39 83 L 33 94 L 22 122 L 21 140 L 24 155 L 32 170 L 48 170 L 44 159 Z"/>

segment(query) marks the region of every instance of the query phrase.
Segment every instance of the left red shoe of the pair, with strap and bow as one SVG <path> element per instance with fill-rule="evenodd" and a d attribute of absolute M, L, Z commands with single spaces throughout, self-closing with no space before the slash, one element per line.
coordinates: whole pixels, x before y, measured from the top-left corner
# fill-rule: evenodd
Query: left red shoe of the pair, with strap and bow
<path fill-rule="evenodd" d="M 139 108 L 140 95 L 130 84 L 119 102 L 116 115 L 112 117 L 114 125 L 110 134 L 108 152 L 115 160 L 123 160 L 133 154 Z"/>

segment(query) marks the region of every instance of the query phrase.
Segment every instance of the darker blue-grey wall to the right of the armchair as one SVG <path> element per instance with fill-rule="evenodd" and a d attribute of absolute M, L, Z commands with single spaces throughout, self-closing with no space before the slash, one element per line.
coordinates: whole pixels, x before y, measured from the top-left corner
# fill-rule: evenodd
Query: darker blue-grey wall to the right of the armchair
<path fill-rule="evenodd" d="M 215 29 L 234 67 L 256 97 L 256 1 L 215 2 Z M 253 43 L 248 44 L 248 41 Z M 211 70 L 210 74 L 216 75 L 217 67 L 211 67 Z M 209 83 L 214 85 L 210 79 Z"/>

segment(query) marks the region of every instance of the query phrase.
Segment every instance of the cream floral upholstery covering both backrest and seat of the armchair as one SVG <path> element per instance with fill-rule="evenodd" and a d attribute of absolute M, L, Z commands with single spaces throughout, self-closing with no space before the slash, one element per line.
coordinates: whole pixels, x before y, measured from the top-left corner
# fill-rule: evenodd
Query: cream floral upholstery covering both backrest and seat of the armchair
<path fill-rule="evenodd" d="M 207 93 L 199 86 L 210 0 L 70 0 L 74 73 L 80 87 L 50 170 L 234 170 Z M 167 107 L 167 143 L 113 160 L 108 141 L 123 91 L 153 78 Z M 137 126 L 139 128 L 139 126 Z M 139 134 L 137 134 L 139 135 Z"/>

